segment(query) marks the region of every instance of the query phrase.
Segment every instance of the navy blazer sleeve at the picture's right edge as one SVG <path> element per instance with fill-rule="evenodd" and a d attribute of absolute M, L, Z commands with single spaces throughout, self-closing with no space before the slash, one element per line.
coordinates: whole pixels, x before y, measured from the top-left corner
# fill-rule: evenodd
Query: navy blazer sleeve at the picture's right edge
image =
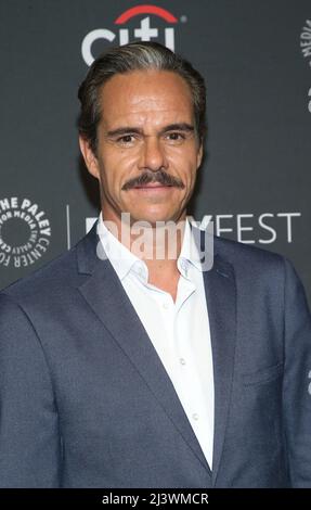
<path fill-rule="evenodd" d="M 284 430 L 293 487 L 311 487 L 311 318 L 306 294 L 285 262 Z"/>

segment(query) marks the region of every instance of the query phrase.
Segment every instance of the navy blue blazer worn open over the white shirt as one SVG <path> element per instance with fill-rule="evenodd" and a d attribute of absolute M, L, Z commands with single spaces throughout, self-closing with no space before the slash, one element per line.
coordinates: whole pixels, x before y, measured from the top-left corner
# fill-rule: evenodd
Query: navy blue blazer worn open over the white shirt
<path fill-rule="evenodd" d="M 216 239 L 210 471 L 96 243 L 94 227 L 0 293 L 0 486 L 311 487 L 311 322 L 290 264 Z"/>

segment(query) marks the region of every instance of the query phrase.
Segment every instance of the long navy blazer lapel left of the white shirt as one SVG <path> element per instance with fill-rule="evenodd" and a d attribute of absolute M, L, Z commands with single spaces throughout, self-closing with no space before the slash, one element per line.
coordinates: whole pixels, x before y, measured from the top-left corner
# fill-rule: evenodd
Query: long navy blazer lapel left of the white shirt
<path fill-rule="evenodd" d="M 89 275 L 79 286 L 87 303 L 140 372 L 189 447 L 209 470 L 173 385 L 111 263 L 95 255 L 95 227 L 78 246 L 79 272 Z"/>

